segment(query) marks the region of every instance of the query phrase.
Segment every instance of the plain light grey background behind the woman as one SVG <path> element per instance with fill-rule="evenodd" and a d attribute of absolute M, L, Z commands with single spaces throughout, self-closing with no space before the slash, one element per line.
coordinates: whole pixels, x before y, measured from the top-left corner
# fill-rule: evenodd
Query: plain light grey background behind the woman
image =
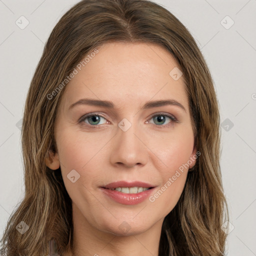
<path fill-rule="evenodd" d="M 76 2 L 0 0 L 1 236 L 24 192 L 19 127 L 29 83 L 52 28 Z M 256 255 L 256 0 L 155 2 L 188 28 L 213 76 L 223 122 L 222 177 L 233 226 L 228 255 Z M 25 24 L 21 15 L 29 21 L 24 29 L 15 23 Z"/>

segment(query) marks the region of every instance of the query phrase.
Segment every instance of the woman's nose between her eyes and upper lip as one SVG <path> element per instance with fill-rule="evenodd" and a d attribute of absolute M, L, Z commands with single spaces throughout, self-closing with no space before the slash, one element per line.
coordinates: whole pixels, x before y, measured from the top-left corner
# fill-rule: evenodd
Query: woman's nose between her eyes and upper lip
<path fill-rule="evenodd" d="M 138 130 L 138 125 L 132 124 L 126 131 L 117 127 L 110 153 L 110 161 L 113 165 L 128 168 L 146 164 L 149 154 L 145 135 L 143 136 L 142 133 L 142 130 Z"/>

